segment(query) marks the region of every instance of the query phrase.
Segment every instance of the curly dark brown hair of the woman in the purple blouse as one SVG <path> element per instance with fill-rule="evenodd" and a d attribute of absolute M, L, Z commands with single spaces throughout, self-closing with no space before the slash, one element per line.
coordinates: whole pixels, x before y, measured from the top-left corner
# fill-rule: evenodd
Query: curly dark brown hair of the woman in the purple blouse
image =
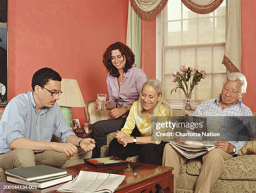
<path fill-rule="evenodd" d="M 125 44 L 121 43 L 121 42 L 116 42 L 111 44 L 110 46 L 108 46 L 108 48 L 106 49 L 106 51 L 103 54 L 103 64 L 105 66 L 105 68 L 107 69 L 107 71 L 109 72 L 109 74 L 113 77 L 119 77 L 120 73 L 118 71 L 117 68 L 115 68 L 115 66 L 112 64 L 111 62 L 111 51 L 112 50 L 119 50 L 122 54 L 122 56 L 126 58 L 126 63 L 125 63 L 125 67 L 123 69 L 123 72 L 126 73 L 128 71 L 128 69 L 131 69 L 131 67 L 134 64 L 135 61 L 135 55 L 133 53 L 133 51 L 126 46 Z"/>

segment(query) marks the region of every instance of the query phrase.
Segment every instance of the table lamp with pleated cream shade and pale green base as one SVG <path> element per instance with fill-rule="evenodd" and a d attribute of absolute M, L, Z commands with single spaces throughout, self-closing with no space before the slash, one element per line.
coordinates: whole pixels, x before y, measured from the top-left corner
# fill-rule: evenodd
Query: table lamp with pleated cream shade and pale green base
<path fill-rule="evenodd" d="M 72 127 L 72 107 L 85 107 L 82 93 L 74 79 L 62 79 L 61 91 L 58 104 L 61 107 L 62 114 L 67 120 L 67 125 Z"/>

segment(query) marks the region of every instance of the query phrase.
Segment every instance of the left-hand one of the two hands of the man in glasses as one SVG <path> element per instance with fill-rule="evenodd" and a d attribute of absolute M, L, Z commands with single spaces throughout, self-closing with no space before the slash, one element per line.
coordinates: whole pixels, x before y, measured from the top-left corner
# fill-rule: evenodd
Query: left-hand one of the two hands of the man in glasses
<path fill-rule="evenodd" d="M 56 152 L 63 152 L 67 157 L 73 157 L 77 154 L 77 147 L 72 143 L 53 143 L 53 150 Z"/>

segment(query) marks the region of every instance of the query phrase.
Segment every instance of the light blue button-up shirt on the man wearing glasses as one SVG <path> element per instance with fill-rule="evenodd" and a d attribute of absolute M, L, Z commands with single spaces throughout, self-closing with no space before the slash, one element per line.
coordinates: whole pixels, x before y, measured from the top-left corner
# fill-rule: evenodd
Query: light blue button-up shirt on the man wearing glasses
<path fill-rule="evenodd" d="M 19 94 L 5 107 L 0 121 L 0 153 L 9 151 L 10 143 L 20 137 L 36 141 L 51 141 L 52 135 L 66 142 L 67 137 L 74 135 L 72 128 L 61 113 L 58 103 L 52 108 L 44 107 L 37 114 L 33 91 Z"/>

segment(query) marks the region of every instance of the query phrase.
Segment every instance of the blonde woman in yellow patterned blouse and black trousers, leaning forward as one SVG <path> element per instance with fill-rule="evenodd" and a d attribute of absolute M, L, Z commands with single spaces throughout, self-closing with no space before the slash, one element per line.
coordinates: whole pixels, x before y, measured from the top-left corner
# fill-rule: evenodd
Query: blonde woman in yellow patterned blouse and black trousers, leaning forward
<path fill-rule="evenodd" d="M 141 89 L 139 100 L 134 102 L 121 131 L 109 145 L 109 155 L 123 160 L 127 157 L 139 156 L 140 163 L 161 165 L 164 145 L 151 129 L 151 117 L 166 117 L 171 108 L 165 102 L 163 86 L 157 79 L 147 80 Z M 131 136 L 137 127 L 141 137 Z"/>

